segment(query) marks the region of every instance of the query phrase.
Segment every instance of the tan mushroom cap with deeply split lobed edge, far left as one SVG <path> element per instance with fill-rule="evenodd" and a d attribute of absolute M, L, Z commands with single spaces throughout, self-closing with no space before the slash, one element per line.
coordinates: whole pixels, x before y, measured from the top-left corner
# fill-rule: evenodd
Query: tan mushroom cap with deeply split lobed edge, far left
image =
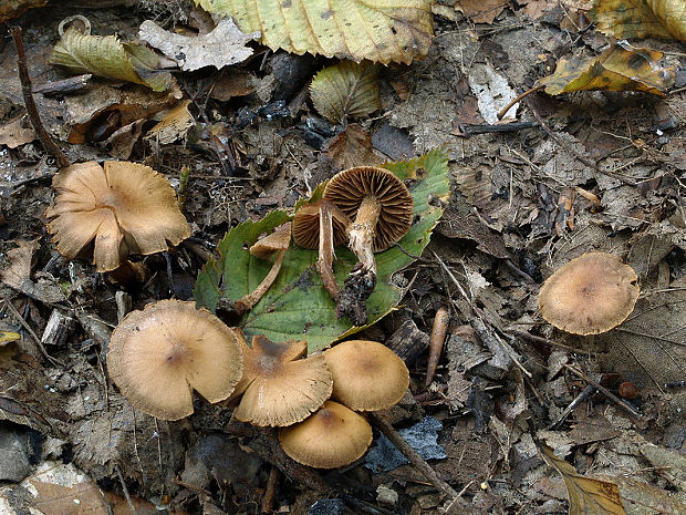
<path fill-rule="evenodd" d="M 107 161 L 63 168 L 52 179 L 58 192 L 48 230 L 58 250 L 74 259 L 93 244 L 97 271 L 118 268 L 129 253 L 155 254 L 190 236 L 176 195 L 164 175 L 136 163 Z"/>

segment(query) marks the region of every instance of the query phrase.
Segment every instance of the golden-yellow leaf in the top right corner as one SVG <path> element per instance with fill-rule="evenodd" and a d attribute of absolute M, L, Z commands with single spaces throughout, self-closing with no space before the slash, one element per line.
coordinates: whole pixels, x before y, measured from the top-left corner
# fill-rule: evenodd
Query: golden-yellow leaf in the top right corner
<path fill-rule="evenodd" d="M 595 0 L 589 14 L 600 32 L 615 38 L 686 41 L 684 0 Z"/>

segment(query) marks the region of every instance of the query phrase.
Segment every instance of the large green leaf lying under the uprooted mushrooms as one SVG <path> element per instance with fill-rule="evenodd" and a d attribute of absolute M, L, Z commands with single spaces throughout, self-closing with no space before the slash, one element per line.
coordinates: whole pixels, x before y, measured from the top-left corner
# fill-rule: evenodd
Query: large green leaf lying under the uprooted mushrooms
<path fill-rule="evenodd" d="M 412 256 L 419 256 L 429 243 L 432 230 L 443 214 L 441 202 L 450 194 L 447 162 L 447 155 L 435 150 L 423 157 L 385 165 L 408 184 L 415 200 L 416 222 L 399 246 L 376 255 L 376 289 L 366 301 L 370 326 L 401 300 L 402 291 L 391 285 L 391 276 L 413 262 Z M 316 192 L 321 192 L 321 187 Z M 215 311 L 220 297 L 237 300 L 252 291 L 269 272 L 271 262 L 250 256 L 247 249 L 260 234 L 269 233 L 288 219 L 285 212 L 277 210 L 260 222 L 246 222 L 231 229 L 219 244 L 219 257 L 210 259 L 198 275 L 195 289 L 198 305 Z M 336 320 L 335 305 L 322 286 L 315 261 L 316 250 L 300 247 L 288 250 L 271 289 L 239 321 L 248 341 L 252 334 L 264 334 L 272 341 L 299 338 L 306 340 L 312 351 L 368 327 L 353 327 L 347 318 Z M 333 271 L 340 285 L 356 261 L 346 248 L 336 248 Z"/>

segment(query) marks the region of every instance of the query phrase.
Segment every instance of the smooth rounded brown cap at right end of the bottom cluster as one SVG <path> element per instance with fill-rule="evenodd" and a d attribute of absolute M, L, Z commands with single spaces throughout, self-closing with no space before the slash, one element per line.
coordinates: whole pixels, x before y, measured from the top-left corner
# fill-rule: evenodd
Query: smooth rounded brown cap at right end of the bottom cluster
<path fill-rule="evenodd" d="M 409 387 L 405 362 L 376 341 L 344 341 L 323 356 L 333 375 L 331 398 L 352 410 L 391 408 L 403 399 Z"/>

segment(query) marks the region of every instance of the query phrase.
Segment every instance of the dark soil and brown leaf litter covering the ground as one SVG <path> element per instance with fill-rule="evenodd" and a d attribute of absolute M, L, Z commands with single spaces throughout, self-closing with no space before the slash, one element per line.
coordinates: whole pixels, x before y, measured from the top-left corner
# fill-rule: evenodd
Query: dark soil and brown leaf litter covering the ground
<path fill-rule="evenodd" d="M 70 76 L 48 63 L 58 25 L 70 16 L 86 16 L 95 34 L 128 40 L 144 20 L 166 29 L 199 23 L 179 0 L 72 3 L 52 1 L 8 22 L 23 29 L 34 86 Z M 597 55 L 610 41 L 585 27 L 579 13 L 589 6 L 579 2 L 482 2 L 492 18 L 467 16 L 461 4 L 472 3 L 441 0 L 428 55 L 380 66 L 382 106 L 351 121 L 362 135 L 342 154 L 328 147 L 343 126 L 320 117 L 308 94 L 312 76 L 334 61 L 254 42 L 240 64 L 175 73 L 170 93 L 91 79 L 87 93 L 34 94 L 72 162 L 144 163 L 177 190 L 179 171 L 189 169 L 181 188 L 191 237 L 168 253 L 135 257 L 145 264 L 144 281 L 124 286 L 89 260 L 60 256 L 51 241 L 44 209 L 58 167 L 25 132 L 17 52 L 2 32 L 0 131 L 19 122 L 9 136 L 0 132 L 0 331 L 21 339 L 0 344 L 0 514 L 561 514 L 570 503 L 579 509 L 579 494 L 568 496 L 553 467 L 564 465 L 551 466 L 544 446 L 579 476 L 616 485 L 627 514 L 638 513 L 636 492 L 648 506 L 641 513 L 679 513 L 684 47 L 640 41 L 675 69 L 666 95 L 537 91 L 519 103 L 516 120 L 496 124 L 479 109 L 486 85 L 524 91 L 560 59 Z M 194 122 L 170 141 L 150 136 L 181 99 L 190 100 Z M 427 416 L 439 422 L 429 424 L 435 454 L 426 460 L 459 501 L 416 464 L 375 470 L 362 459 L 316 471 L 283 455 L 274 431 L 232 421 L 230 408 L 196 396 L 194 415 L 167 422 L 119 394 L 106 372 L 118 319 L 159 299 L 193 299 L 198 271 L 231 227 L 293 207 L 343 166 L 363 164 L 356 155 L 378 164 L 436 147 L 449 154 L 449 203 L 422 258 L 394 277 L 406 291 L 397 310 L 363 336 L 406 360 L 410 390 L 387 420 L 397 430 Z M 555 269 L 591 250 L 632 266 L 641 296 L 619 328 L 568 334 L 541 318 L 538 291 Z M 8 279 L 10 269 L 19 281 Z M 449 310 L 443 351 L 427 349 L 440 307 Z M 440 354 L 425 385 L 432 352 Z M 627 382 L 635 395 L 620 389 Z M 422 434 L 430 440 L 432 431 Z"/>

